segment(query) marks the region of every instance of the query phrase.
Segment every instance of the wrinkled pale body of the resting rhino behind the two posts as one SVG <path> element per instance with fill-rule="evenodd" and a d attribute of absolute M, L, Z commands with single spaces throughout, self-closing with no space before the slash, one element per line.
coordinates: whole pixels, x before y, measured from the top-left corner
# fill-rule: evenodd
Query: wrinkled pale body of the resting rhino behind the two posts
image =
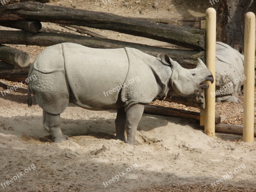
<path fill-rule="evenodd" d="M 244 55 L 216 42 L 216 102 L 240 102 L 238 95 L 244 80 Z"/>

